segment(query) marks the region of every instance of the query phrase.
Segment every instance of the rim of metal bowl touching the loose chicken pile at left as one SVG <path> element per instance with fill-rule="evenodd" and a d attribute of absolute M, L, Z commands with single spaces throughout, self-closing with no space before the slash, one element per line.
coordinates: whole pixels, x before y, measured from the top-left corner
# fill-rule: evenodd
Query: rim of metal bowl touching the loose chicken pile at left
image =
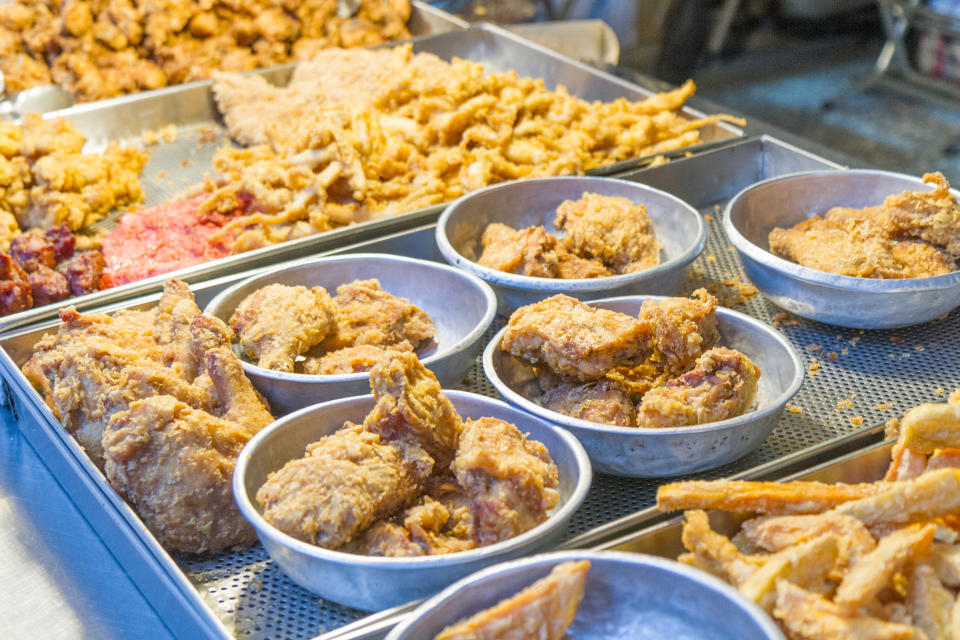
<path fill-rule="evenodd" d="M 309 262 L 298 262 L 295 265 L 283 265 L 270 271 L 259 273 L 249 278 L 245 278 L 242 281 L 231 285 L 227 289 L 224 289 L 216 295 L 216 297 L 211 300 L 206 307 L 203 309 L 203 313 L 207 315 L 212 315 L 214 317 L 220 318 L 211 311 L 211 309 L 216 309 L 216 307 L 222 304 L 223 299 L 228 295 L 232 294 L 237 289 L 240 289 L 243 286 L 246 286 L 248 283 L 256 282 L 260 279 L 270 278 L 277 273 L 280 273 L 286 269 L 299 269 L 302 267 L 313 266 L 318 263 L 327 263 L 327 262 L 353 262 L 358 260 L 370 260 L 375 259 L 382 262 L 405 262 L 413 263 L 420 266 L 425 266 L 427 268 L 436 268 L 440 271 L 445 271 L 449 274 L 454 274 L 456 277 L 465 278 L 470 284 L 477 287 L 477 290 L 483 293 L 483 297 L 486 299 L 486 308 L 484 310 L 483 318 L 480 323 L 477 324 L 467 335 L 463 336 L 455 343 L 449 345 L 443 351 L 437 351 L 431 356 L 428 356 L 421 360 L 424 365 L 430 366 L 431 363 L 445 358 L 453 353 L 463 351 L 467 346 L 473 344 L 477 340 L 483 338 L 483 334 L 486 333 L 487 327 L 490 326 L 490 323 L 493 322 L 493 318 L 497 314 L 497 294 L 493 292 L 493 289 L 489 284 L 484 282 L 481 278 L 473 275 L 472 273 L 465 272 L 461 269 L 457 269 L 447 264 L 441 262 L 434 262 L 432 260 L 420 260 L 419 258 L 408 258 L 406 256 L 397 256 L 389 253 L 351 253 L 348 255 L 342 256 L 326 256 L 323 258 L 317 258 L 316 260 L 311 260 Z M 270 284 L 269 282 L 265 283 L 265 286 Z M 223 320 L 223 318 L 220 318 Z M 224 320 L 229 326 L 229 321 Z M 243 370 L 248 374 L 255 374 L 263 378 L 273 378 L 275 380 L 285 380 L 290 382 L 305 382 L 305 383 L 324 383 L 324 384 L 336 384 L 341 382 L 354 382 L 358 380 L 364 380 L 370 377 L 369 371 L 361 371 L 359 373 L 342 373 L 338 375 L 331 374 L 309 374 L 309 373 L 294 373 L 288 371 L 274 371 L 272 369 L 267 369 L 266 367 L 259 367 L 252 362 L 247 361 L 245 358 L 240 358 L 240 364 L 243 366 Z"/>

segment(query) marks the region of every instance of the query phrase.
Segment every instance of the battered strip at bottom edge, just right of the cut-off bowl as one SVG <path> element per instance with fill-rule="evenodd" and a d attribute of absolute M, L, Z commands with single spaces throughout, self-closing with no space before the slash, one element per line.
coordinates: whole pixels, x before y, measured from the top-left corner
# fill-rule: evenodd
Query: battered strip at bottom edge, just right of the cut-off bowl
<path fill-rule="evenodd" d="M 913 627 L 879 618 L 849 615 L 821 596 L 786 580 L 777 583 L 773 615 L 791 637 L 803 640 L 908 640 Z"/>

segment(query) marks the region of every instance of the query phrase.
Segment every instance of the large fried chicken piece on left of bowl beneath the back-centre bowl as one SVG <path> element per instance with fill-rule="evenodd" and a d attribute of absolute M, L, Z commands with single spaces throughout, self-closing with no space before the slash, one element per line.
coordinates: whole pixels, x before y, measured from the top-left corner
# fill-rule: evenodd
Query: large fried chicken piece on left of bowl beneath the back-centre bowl
<path fill-rule="evenodd" d="M 575 380 L 602 378 L 647 352 L 648 329 L 636 318 L 558 294 L 510 316 L 500 348 Z"/>

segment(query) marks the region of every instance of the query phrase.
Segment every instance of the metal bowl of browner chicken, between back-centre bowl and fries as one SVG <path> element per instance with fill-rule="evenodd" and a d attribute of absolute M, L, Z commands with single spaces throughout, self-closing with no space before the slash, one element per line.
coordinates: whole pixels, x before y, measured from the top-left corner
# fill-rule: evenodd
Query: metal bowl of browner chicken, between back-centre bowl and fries
<path fill-rule="evenodd" d="M 629 296 L 590 304 L 632 316 L 644 300 Z M 594 468 L 633 478 L 677 476 L 719 467 L 759 447 L 776 426 L 787 401 L 803 383 L 803 363 L 777 331 L 750 316 L 717 309 L 720 344 L 737 349 L 760 368 L 754 407 L 736 418 L 690 427 L 650 429 L 598 424 L 545 409 L 537 404 L 540 387 L 533 367 L 500 348 L 506 327 L 483 352 L 483 370 L 510 404 L 567 429 L 583 443 Z"/>

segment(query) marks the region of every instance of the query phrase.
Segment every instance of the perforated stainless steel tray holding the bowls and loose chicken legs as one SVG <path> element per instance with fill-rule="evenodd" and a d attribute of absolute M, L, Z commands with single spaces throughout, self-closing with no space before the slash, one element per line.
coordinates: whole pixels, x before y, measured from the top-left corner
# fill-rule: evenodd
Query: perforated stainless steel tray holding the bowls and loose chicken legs
<path fill-rule="evenodd" d="M 707 249 L 694 263 L 695 268 L 702 269 L 702 276 L 692 271 L 686 290 L 701 284 L 729 289 L 721 284 L 723 280 L 743 276 L 735 255 L 727 250 L 729 243 L 723 237 L 715 207 L 752 181 L 778 173 L 830 166 L 835 165 L 762 137 L 639 171 L 630 177 L 671 189 L 713 218 L 707 225 L 710 232 Z M 425 225 L 331 253 L 383 251 L 440 260 L 433 231 L 432 225 Z M 710 256 L 714 259 L 710 260 Z M 238 273 L 195 285 L 198 302 L 205 305 L 231 282 L 250 274 Z M 152 304 L 156 298 L 152 295 L 115 304 L 112 308 Z M 759 294 L 734 308 L 766 321 L 776 313 Z M 160 548 L 131 509 L 109 489 L 72 438 L 59 428 L 49 409 L 19 372 L 18 365 L 29 357 L 32 345 L 44 328 L 52 326 L 55 323 L 0 338 L 0 368 L 14 409 L 21 416 L 21 430 L 133 580 L 144 593 L 151 594 L 157 611 L 177 635 L 309 638 L 353 622 L 372 629 L 375 634 L 389 626 L 389 616 L 379 616 L 386 621 L 379 627 L 371 627 L 377 618 L 319 602 L 290 582 L 261 547 L 208 559 L 174 557 Z M 864 425 L 876 425 L 918 402 L 937 399 L 940 397 L 938 387 L 960 386 L 960 371 L 952 355 L 960 349 L 958 313 L 943 321 L 900 332 L 860 334 L 807 322 L 783 327 L 783 331 L 801 352 L 806 345 L 818 342 L 823 346 L 842 343 L 849 353 L 825 362 L 817 375 L 808 377 L 795 399 L 803 411 L 785 414 L 760 449 L 696 477 L 768 476 L 785 473 L 786 468 L 809 466 L 822 456 L 836 455 L 844 448 L 861 446 L 865 440 L 878 437 L 879 427 Z M 891 337 L 902 338 L 903 342 L 892 343 Z M 923 351 L 916 349 L 921 346 Z M 836 348 L 839 351 L 843 347 Z M 891 359 L 889 353 L 895 353 L 896 357 Z M 904 353 L 910 357 L 900 355 Z M 475 366 L 460 387 L 494 395 L 479 366 Z M 847 399 L 850 394 L 857 396 L 852 400 L 855 406 L 838 410 L 837 400 Z M 891 410 L 874 409 L 874 405 L 885 401 L 893 403 Z M 863 424 L 850 422 L 848 417 L 853 415 L 862 415 Z M 586 502 L 567 527 L 564 546 L 596 546 L 647 523 L 641 517 L 641 510 L 653 503 L 659 484 L 657 480 L 597 475 Z"/>

